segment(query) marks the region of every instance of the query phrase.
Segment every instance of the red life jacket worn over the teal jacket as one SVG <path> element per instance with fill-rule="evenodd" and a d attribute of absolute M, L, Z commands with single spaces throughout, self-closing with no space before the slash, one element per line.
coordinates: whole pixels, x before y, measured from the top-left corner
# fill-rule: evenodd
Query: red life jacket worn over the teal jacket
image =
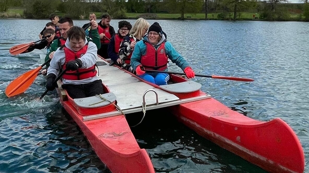
<path fill-rule="evenodd" d="M 167 68 L 167 54 L 165 54 L 165 42 L 161 43 L 158 49 L 150 44 L 146 44 L 146 54 L 141 56 L 141 64 L 146 70 L 159 70 L 163 71 Z"/>

